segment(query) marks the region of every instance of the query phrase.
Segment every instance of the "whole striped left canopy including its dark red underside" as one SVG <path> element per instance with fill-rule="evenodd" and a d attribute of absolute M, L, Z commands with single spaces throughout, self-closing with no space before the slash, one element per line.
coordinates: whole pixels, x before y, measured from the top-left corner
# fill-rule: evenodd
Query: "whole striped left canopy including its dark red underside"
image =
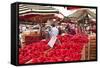
<path fill-rule="evenodd" d="M 19 5 L 19 19 L 20 21 L 28 21 L 31 23 L 45 23 L 48 19 L 58 19 L 55 14 L 59 11 L 50 6 L 39 5 Z"/>

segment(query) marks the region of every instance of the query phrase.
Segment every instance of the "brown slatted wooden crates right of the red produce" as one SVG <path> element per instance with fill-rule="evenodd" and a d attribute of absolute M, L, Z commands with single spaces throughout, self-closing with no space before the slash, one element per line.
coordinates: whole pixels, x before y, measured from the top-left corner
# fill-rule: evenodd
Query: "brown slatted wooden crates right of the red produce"
<path fill-rule="evenodd" d="M 85 60 L 96 59 L 96 36 L 89 38 L 89 43 L 85 47 Z"/>

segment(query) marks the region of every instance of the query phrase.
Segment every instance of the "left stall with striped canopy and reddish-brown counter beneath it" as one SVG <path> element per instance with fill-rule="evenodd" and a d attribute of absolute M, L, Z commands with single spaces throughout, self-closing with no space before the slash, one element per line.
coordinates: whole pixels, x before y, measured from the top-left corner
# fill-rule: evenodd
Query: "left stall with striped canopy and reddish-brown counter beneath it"
<path fill-rule="evenodd" d="M 24 44 L 30 44 L 42 40 L 42 35 L 44 35 L 43 25 L 49 23 L 52 24 L 53 20 L 60 20 L 60 18 L 57 17 L 59 11 L 52 7 L 41 7 L 27 4 L 19 6 L 20 30 L 23 31 L 23 26 L 25 29 L 25 31 L 21 32 L 21 35 L 24 37 L 22 38 Z"/>

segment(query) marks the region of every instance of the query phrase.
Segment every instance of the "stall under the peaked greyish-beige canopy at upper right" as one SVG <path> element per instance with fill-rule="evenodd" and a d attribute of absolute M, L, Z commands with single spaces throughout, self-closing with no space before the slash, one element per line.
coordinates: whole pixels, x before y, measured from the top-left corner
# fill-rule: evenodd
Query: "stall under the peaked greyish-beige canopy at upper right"
<path fill-rule="evenodd" d="M 70 18 L 73 22 L 77 23 L 78 26 L 81 26 L 86 33 L 94 33 L 93 30 L 95 30 L 95 27 L 94 29 L 92 28 L 93 26 L 96 26 L 96 14 L 91 10 L 92 9 L 80 8 L 76 12 L 67 16 L 67 18 Z"/>

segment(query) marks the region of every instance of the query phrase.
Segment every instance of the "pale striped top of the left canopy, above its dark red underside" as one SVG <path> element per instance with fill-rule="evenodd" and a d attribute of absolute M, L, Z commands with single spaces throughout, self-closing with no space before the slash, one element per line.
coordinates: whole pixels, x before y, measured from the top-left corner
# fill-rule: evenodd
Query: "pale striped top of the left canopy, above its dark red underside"
<path fill-rule="evenodd" d="M 40 5 L 19 5 L 19 15 L 27 14 L 55 14 L 59 13 L 58 10 L 52 8 L 51 6 L 40 6 Z"/>

